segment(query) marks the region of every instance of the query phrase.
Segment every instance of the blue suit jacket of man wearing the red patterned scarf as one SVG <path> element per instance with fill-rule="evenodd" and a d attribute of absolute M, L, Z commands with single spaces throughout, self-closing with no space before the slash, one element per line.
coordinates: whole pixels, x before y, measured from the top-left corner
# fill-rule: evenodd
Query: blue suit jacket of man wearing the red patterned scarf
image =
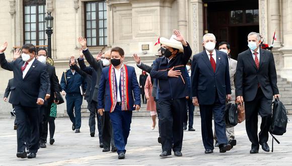
<path fill-rule="evenodd" d="M 139 105 L 139 106 L 141 105 L 140 88 L 137 81 L 135 68 L 128 65 L 126 65 L 126 67 L 128 69 L 128 95 L 129 95 L 128 102 L 130 106 L 129 111 L 133 111 L 135 110 L 133 105 Z M 122 94 L 121 84 L 119 84 L 119 90 L 120 90 L 120 95 L 121 95 Z M 98 109 L 104 109 L 105 111 L 110 111 L 110 107 L 112 105 L 110 95 L 111 94 L 110 94 L 110 85 L 109 85 L 109 66 L 107 66 L 103 68 L 101 72 L 101 78 L 100 78 L 99 89 L 98 89 Z"/>

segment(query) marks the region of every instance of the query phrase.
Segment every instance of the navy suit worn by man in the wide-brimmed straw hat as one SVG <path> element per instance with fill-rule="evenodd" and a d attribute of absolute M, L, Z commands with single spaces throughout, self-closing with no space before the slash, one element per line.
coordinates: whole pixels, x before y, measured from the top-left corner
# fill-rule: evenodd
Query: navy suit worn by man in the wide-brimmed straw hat
<path fill-rule="evenodd" d="M 183 141 L 183 121 L 186 113 L 186 96 L 189 89 L 186 82 L 185 65 L 192 55 L 190 46 L 184 46 L 183 53 L 177 53 L 169 60 L 159 57 L 153 63 L 151 77 L 157 79 L 157 104 L 160 109 L 159 123 L 161 129 L 162 150 L 171 153 L 181 151 Z M 179 77 L 169 77 L 168 71 L 180 70 Z M 172 147 L 173 143 L 173 147 Z"/>

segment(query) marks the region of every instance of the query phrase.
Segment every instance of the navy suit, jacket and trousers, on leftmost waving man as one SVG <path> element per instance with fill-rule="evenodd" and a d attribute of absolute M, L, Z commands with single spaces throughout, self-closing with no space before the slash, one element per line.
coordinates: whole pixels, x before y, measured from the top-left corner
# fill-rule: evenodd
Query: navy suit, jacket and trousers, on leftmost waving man
<path fill-rule="evenodd" d="M 5 55 L 0 54 L 1 67 L 13 71 L 14 85 L 11 87 L 10 101 L 15 106 L 18 121 L 17 128 L 17 151 L 25 150 L 25 142 L 30 142 L 30 152 L 36 153 L 39 145 L 39 108 L 37 99 L 45 99 L 49 76 L 46 65 L 34 59 L 31 67 L 23 78 L 21 67 L 24 65 L 22 59 L 7 62 Z M 29 122 L 32 137 L 27 140 L 26 130 Z"/>

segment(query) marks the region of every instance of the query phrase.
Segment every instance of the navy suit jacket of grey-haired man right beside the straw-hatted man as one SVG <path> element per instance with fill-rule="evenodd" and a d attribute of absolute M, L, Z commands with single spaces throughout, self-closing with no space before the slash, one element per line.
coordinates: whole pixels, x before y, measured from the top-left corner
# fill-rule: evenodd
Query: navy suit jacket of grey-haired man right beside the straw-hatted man
<path fill-rule="evenodd" d="M 197 97 L 200 105 L 212 105 L 216 92 L 222 104 L 226 95 L 231 94 L 228 56 L 222 51 L 216 51 L 216 70 L 213 71 L 206 51 L 193 56 L 191 90 L 192 97 Z"/>

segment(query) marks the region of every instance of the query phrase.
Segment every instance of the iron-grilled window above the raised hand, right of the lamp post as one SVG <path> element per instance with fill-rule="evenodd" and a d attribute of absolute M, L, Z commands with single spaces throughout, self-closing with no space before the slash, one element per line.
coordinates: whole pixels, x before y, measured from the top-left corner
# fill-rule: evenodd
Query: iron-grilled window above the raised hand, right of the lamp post
<path fill-rule="evenodd" d="M 87 46 L 107 45 L 107 7 L 105 1 L 85 3 Z"/>

